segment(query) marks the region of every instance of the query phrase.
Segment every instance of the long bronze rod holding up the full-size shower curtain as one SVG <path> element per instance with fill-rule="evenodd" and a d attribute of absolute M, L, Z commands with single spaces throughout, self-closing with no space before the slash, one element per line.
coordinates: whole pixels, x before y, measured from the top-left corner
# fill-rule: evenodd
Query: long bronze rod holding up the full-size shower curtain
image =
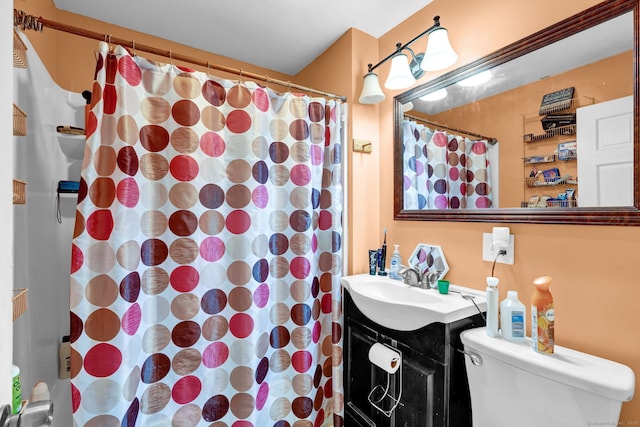
<path fill-rule="evenodd" d="M 91 30 L 87 30 L 87 29 L 84 29 L 84 28 L 79 28 L 79 27 L 74 27 L 74 26 L 67 25 L 67 24 L 62 24 L 60 22 L 55 22 L 55 21 L 51 21 L 49 19 L 45 19 L 45 18 L 43 18 L 41 16 L 40 17 L 36 17 L 36 16 L 33 16 L 33 15 L 29 15 L 29 14 L 23 12 L 22 10 L 18 10 L 18 9 L 13 9 L 13 25 L 16 26 L 16 27 L 21 27 L 23 31 L 25 29 L 35 30 L 35 31 L 42 31 L 43 27 L 51 28 L 53 30 L 63 31 L 63 32 L 66 32 L 66 33 L 71 33 L 71 34 L 75 34 L 75 35 L 78 35 L 78 36 L 87 37 L 87 38 L 90 38 L 90 39 L 104 41 L 104 42 L 107 42 L 109 44 L 122 45 L 124 47 L 128 47 L 128 48 L 132 49 L 134 55 L 135 55 L 135 52 L 137 50 L 141 50 L 143 52 L 152 53 L 154 55 L 163 56 L 165 58 L 170 58 L 171 60 L 188 62 L 188 63 L 191 63 L 191 64 L 207 67 L 207 69 L 214 69 L 214 70 L 218 70 L 218 71 L 224 71 L 225 73 L 231 73 L 231 74 L 239 75 L 241 77 L 244 76 L 244 77 L 248 77 L 248 78 L 251 78 L 251 79 L 254 79 L 254 80 L 260 80 L 260 81 L 266 82 L 267 85 L 269 83 L 274 83 L 274 84 L 277 84 L 277 85 L 282 86 L 282 87 L 287 87 L 289 89 L 295 88 L 295 89 L 302 90 L 304 92 L 310 92 L 310 93 L 314 93 L 314 94 L 317 94 L 317 95 L 322 95 L 322 96 L 325 96 L 327 98 L 340 99 L 343 102 L 346 102 L 346 100 L 347 100 L 347 97 L 343 96 L 343 95 L 335 95 L 333 93 L 324 92 L 324 91 L 321 91 L 321 90 L 318 90 L 318 89 L 313 89 L 313 88 L 310 88 L 310 87 L 306 87 L 306 86 L 302 86 L 302 85 L 299 85 L 299 84 L 291 83 L 290 81 L 273 79 L 273 78 L 271 78 L 271 77 L 269 77 L 267 75 L 256 74 L 256 73 L 252 73 L 252 72 L 249 72 L 249 71 L 245 71 L 242 68 L 232 68 L 232 67 L 227 67 L 225 65 L 213 64 L 210 61 L 204 61 L 204 60 L 199 59 L 199 58 L 194 58 L 194 57 L 190 57 L 190 56 L 187 56 L 187 55 L 182 55 L 180 53 L 174 53 L 172 50 L 164 50 L 164 49 L 159 49 L 159 48 L 156 48 L 156 47 L 153 47 L 153 46 L 147 46 L 147 45 L 143 45 L 143 44 L 138 44 L 134 40 L 121 39 L 121 38 L 118 38 L 118 37 L 113 37 L 113 36 L 111 36 L 111 34 L 102 34 L 102 33 L 98 33 L 98 32 L 91 31 Z"/>

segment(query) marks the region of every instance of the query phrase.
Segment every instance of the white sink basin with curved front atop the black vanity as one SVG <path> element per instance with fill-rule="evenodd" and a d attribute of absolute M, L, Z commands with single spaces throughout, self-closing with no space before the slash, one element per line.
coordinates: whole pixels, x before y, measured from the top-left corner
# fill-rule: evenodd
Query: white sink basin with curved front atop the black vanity
<path fill-rule="evenodd" d="M 342 286 L 358 309 L 374 322 L 398 331 L 413 331 L 434 322 L 451 323 L 486 311 L 484 292 L 457 285 L 442 295 L 437 289 L 405 285 L 399 280 L 369 274 L 344 276 Z"/>

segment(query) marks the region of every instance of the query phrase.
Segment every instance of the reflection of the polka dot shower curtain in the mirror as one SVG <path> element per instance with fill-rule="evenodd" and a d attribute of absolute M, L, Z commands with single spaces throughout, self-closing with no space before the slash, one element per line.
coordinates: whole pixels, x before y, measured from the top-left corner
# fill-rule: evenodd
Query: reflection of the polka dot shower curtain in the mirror
<path fill-rule="evenodd" d="M 404 209 L 492 206 L 489 144 L 413 120 L 402 123 Z"/>

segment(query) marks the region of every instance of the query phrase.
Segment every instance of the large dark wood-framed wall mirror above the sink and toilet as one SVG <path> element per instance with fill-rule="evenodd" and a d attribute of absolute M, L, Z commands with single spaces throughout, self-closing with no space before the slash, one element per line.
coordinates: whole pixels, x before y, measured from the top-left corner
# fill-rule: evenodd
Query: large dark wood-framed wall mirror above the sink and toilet
<path fill-rule="evenodd" d="M 396 96 L 395 219 L 640 225 L 638 23 L 638 0 L 608 0 Z M 488 82 L 460 85 L 482 72 L 491 73 Z M 443 89 L 445 98 L 424 100 Z M 543 109 L 543 97 L 554 92 L 567 101 L 545 100 Z M 589 124 L 602 114 L 593 110 L 612 104 L 622 104 L 615 120 L 600 121 L 597 128 Z M 405 192 L 417 173 L 434 175 L 432 160 L 422 168 L 417 164 L 418 157 L 437 157 L 433 134 L 457 136 L 468 146 L 479 139 L 498 141 L 485 145 L 491 173 L 484 167 L 477 176 L 467 173 L 485 180 L 468 186 L 468 200 L 443 205 L 433 195 Z M 611 162 L 622 167 L 596 164 L 594 159 L 605 156 L 593 147 L 624 141 L 617 149 L 622 161 Z M 469 159 L 476 166 L 485 162 Z M 435 187 L 435 181 L 425 182 L 418 188 Z M 620 190 L 622 197 L 615 198 Z"/>

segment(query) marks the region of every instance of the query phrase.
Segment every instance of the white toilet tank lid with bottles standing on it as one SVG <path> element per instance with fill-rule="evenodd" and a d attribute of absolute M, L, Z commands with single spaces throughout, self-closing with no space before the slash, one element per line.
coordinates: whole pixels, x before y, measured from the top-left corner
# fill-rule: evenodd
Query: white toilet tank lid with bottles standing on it
<path fill-rule="evenodd" d="M 485 328 L 463 331 L 465 351 L 495 357 L 517 368 L 621 402 L 633 398 L 635 374 L 626 365 L 556 345 L 553 354 L 531 348 L 531 339 L 515 343 L 487 336 Z"/>

